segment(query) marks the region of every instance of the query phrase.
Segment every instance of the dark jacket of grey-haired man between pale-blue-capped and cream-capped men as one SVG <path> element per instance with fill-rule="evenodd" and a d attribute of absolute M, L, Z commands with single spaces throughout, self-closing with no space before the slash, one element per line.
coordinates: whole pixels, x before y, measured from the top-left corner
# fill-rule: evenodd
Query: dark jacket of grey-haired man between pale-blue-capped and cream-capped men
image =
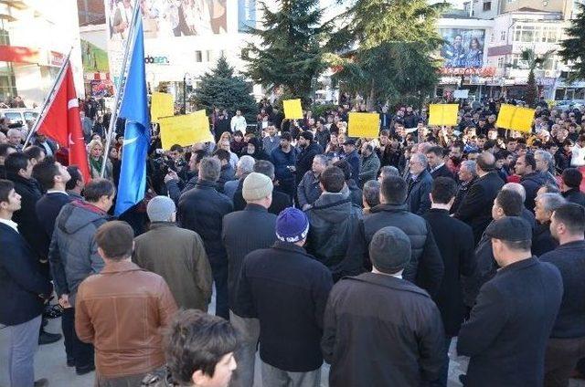
<path fill-rule="evenodd" d="M 206 180 L 197 182 L 195 188 L 181 195 L 176 211 L 179 225 L 195 231 L 203 239 L 212 266 L 228 263 L 221 243 L 221 223 L 223 216 L 234 209 L 228 196 L 218 193 L 215 186 Z"/>

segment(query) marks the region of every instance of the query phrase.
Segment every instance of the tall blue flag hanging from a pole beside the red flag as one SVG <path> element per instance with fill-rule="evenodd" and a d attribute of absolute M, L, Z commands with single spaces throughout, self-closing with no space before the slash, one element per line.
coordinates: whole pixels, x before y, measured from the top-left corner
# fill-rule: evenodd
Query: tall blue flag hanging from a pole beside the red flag
<path fill-rule="evenodd" d="M 120 215 L 144 199 L 146 157 L 150 143 L 150 118 L 144 73 L 143 23 L 136 17 L 134 46 L 124 85 L 120 117 L 126 119 L 122 148 L 122 167 L 114 214 Z"/>

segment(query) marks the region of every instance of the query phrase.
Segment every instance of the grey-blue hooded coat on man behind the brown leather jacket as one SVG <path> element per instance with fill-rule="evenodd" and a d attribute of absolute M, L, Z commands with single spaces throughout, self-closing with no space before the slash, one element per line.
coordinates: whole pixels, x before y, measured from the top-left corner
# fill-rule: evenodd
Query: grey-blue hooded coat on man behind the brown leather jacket
<path fill-rule="evenodd" d="M 85 202 L 65 204 L 57 216 L 48 261 L 58 297 L 69 294 L 71 305 L 81 281 L 103 268 L 94 236 L 107 221 L 108 214 Z"/>

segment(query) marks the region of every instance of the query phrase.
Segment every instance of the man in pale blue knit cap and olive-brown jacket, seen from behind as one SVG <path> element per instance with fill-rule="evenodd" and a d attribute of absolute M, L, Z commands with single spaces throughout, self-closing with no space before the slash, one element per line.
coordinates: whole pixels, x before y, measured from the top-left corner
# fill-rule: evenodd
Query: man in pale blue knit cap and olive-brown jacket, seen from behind
<path fill-rule="evenodd" d="M 203 240 L 176 225 L 169 197 L 152 198 L 146 214 L 150 230 L 134 239 L 133 263 L 163 277 L 179 308 L 207 311 L 213 277 Z"/>

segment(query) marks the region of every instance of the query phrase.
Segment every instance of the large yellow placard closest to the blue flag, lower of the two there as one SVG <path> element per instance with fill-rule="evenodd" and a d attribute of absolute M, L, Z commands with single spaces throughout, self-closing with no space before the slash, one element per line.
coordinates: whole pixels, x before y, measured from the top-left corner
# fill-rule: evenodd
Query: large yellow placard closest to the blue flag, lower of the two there
<path fill-rule="evenodd" d="M 197 142 L 214 141 L 209 131 L 209 119 L 200 111 L 184 116 L 165 117 L 160 119 L 159 123 L 161 142 L 165 151 L 175 144 L 187 146 Z"/>

